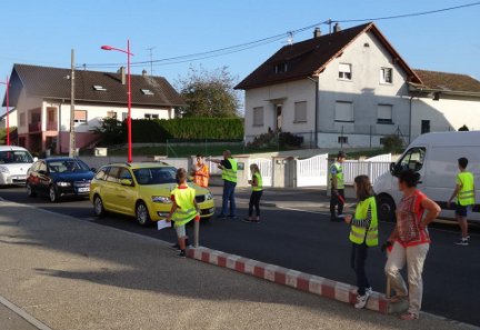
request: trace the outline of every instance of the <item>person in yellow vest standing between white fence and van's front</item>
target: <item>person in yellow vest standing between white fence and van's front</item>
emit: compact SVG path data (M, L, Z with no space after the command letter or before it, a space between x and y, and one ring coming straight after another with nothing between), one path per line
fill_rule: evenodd
M330 221L341 221L336 214L336 207L338 206L338 214L343 213L344 204L344 182L343 182L343 167L347 154L339 151L337 160L332 163L329 170L330 180Z

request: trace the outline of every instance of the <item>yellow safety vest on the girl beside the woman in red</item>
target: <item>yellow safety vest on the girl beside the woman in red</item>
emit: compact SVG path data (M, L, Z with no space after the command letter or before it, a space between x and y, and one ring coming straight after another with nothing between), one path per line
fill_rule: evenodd
M368 247L378 246L378 219L377 219L377 202L374 197L369 197L357 204L354 219L367 219L368 209L371 210L371 221L369 228L351 226L350 241L356 244L367 243Z

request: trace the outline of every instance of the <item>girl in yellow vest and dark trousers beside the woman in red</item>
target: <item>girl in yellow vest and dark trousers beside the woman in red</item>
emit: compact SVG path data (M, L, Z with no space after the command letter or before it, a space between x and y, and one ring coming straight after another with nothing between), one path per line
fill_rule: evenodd
M356 308L363 308L372 293L372 288L367 279L364 264L368 248L378 246L378 218L377 203L367 176L354 178L357 193L357 208L354 216L346 214L344 221L351 224L350 241L352 242L350 263L357 274L358 296Z

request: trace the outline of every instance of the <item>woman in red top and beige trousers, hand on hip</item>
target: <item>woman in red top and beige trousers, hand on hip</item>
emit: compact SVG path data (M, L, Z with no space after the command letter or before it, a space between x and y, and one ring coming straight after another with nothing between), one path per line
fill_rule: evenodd
M399 174L398 186L402 198L397 207L397 224L388 239L393 246L384 270L391 289L396 292L390 300L409 300L408 311L400 317L402 320L419 318L423 294L423 263L430 247L428 226L441 211L434 201L417 189L419 179L419 173L412 170ZM400 274L406 264L408 289Z

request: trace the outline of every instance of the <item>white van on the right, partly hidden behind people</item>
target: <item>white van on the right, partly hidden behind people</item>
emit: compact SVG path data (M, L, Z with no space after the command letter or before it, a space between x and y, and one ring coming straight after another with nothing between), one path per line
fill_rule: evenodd
M420 174L417 187L442 208L440 217L454 219L454 211L447 209L447 201L456 187L461 157L468 159L467 170L473 173L476 182L477 203L468 219L480 221L480 131L427 133L413 140L399 160L391 163L390 173L381 176L373 186L379 218L394 219L396 206L401 198L396 174L412 169Z

